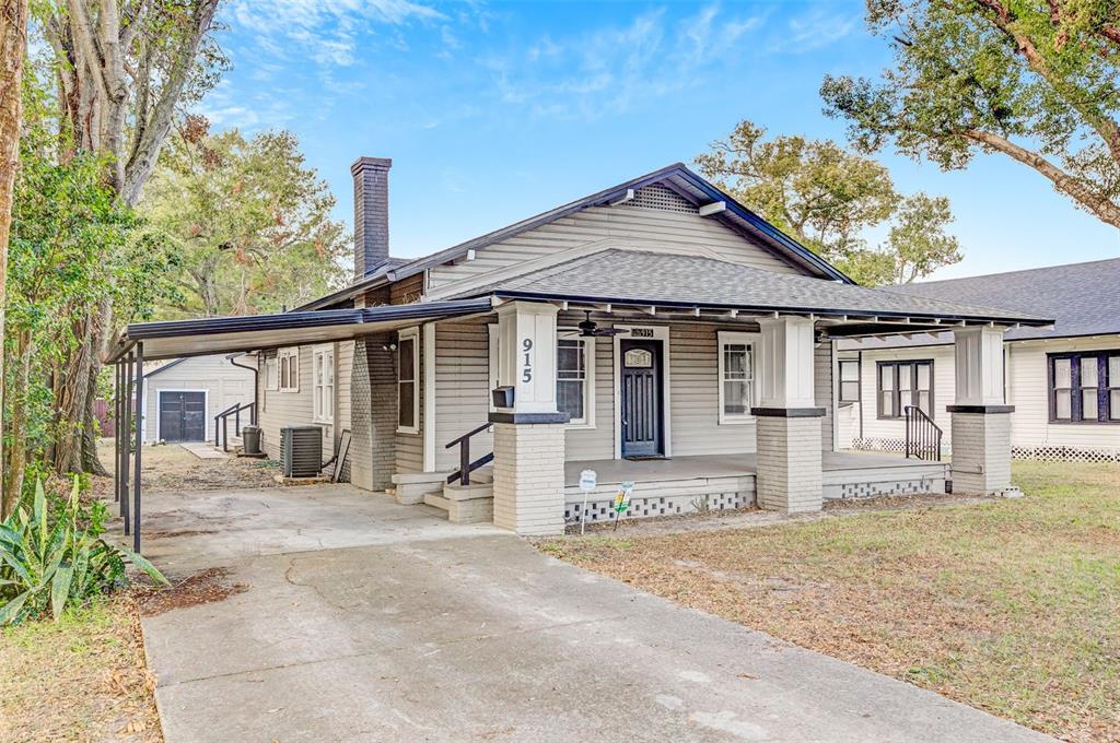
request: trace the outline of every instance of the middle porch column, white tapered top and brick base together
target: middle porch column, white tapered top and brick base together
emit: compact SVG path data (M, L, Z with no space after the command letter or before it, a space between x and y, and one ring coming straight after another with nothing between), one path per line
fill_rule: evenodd
M757 418L758 505L787 514L815 511L823 502L821 417L813 388L813 321L768 318L758 354L760 405Z

